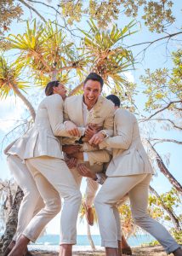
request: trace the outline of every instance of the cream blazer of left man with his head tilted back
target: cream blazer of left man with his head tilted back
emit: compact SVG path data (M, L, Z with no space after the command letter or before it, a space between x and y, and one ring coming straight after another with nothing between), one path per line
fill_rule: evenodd
M63 100L58 94L47 96L37 109L35 125L26 143L24 159L51 156L63 159L60 139L70 136L63 124Z

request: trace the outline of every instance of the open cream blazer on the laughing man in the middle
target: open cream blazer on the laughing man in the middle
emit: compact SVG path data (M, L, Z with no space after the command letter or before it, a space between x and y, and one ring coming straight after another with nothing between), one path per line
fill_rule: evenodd
M79 96L70 96L65 99L64 104L64 120L71 120L75 123L79 129L84 130L84 119L82 112L82 95ZM86 119L86 125L89 123L100 125L103 127L103 131L105 131L108 136L113 135L113 122L114 122L114 104L105 99L102 96L99 96L98 101L94 105L92 111L88 113ZM63 138L64 144L72 144L74 143L73 139ZM93 147L90 147L88 143L84 143L83 148L84 151L92 151L95 150ZM87 148L89 148L87 150Z

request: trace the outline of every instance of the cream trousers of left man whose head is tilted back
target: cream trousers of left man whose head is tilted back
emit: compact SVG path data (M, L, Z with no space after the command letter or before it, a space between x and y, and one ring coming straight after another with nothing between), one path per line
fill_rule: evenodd
M41 156L26 160L45 207L31 219L23 235L36 241L44 226L60 212L60 197L64 205L60 219L60 244L77 243L77 215L82 195L64 160Z

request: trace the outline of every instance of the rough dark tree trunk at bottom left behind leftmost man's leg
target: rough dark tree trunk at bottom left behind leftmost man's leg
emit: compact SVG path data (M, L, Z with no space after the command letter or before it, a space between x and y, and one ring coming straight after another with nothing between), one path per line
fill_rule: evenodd
M23 192L18 187L16 190L16 195L14 197L13 206L11 208L9 218L6 223L6 229L5 229L4 234L0 240L0 252L2 252L2 253L6 250L6 248L9 246L9 243L12 241L12 239L14 237L14 233L16 231L16 226L17 226L17 222L18 222L17 216L18 216L20 202L21 202L22 198L23 198Z

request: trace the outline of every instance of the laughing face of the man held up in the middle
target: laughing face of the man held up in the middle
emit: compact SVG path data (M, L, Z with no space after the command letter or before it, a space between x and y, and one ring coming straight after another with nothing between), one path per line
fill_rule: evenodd
M83 86L83 98L88 110L94 107L101 93L100 82L89 79Z

